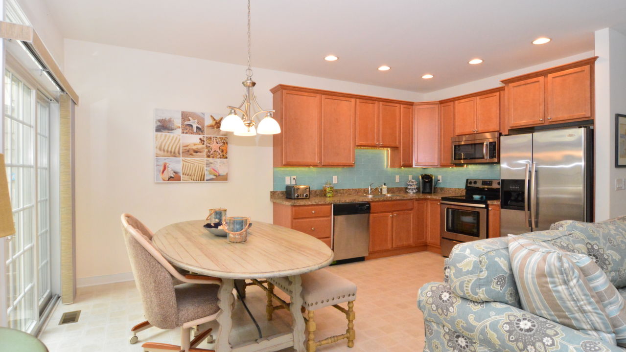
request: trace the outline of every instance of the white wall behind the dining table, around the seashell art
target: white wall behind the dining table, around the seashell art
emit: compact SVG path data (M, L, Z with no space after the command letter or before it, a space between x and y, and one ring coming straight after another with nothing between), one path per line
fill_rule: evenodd
M244 53L245 54L245 53ZM239 105L244 66L84 41L65 41L66 76L80 96L76 108L76 267L92 276L130 271L120 214L153 231L200 219L207 209L272 220L272 138L230 137L228 183L156 184L153 109L227 113ZM419 94L364 84L255 69L255 92L272 106L276 84L417 101Z

